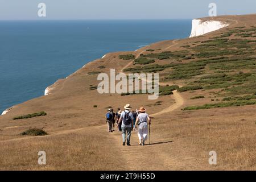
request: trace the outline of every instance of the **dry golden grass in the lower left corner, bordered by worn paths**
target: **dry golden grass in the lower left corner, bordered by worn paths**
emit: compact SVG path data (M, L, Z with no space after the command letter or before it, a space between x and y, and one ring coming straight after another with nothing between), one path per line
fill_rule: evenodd
M97 128L97 127L96 127ZM1 170L117 170L121 156L113 140L95 129L56 136L1 142ZM47 165L38 164L46 152Z

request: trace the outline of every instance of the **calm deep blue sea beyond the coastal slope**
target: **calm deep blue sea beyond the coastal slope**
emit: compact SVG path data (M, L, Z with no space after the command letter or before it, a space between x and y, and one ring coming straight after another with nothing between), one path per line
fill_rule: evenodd
M186 38L191 20L0 22L0 114L108 52Z

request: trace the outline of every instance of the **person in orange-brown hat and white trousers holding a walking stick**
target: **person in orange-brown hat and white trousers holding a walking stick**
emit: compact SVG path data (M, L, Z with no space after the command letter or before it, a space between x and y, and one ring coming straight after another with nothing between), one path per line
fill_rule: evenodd
M151 118L146 113L146 109L144 107L139 108L139 114L136 119L135 127L137 127L137 125L138 125L139 145L144 146L145 141L147 140L147 133L148 133L147 126L151 125Z

